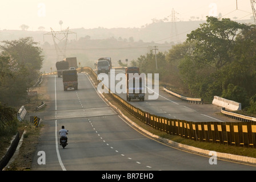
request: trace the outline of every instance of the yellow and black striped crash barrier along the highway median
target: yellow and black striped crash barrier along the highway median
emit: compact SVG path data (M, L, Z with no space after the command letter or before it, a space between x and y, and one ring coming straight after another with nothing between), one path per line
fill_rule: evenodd
M91 68L82 68L82 71L90 73L97 80L97 75ZM167 134L199 142L256 148L256 122L193 122L170 119L143 111L110 90L109 96L135 118Z

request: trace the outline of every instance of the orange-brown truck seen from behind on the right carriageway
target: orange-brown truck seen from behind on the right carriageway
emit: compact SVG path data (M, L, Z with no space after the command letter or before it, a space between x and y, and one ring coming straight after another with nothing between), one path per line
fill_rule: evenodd
M133 76L129 77L129 73ZM137 74L136 74L137 73ZM144 75L139 73L138 67L127 67L125 69L126 75L126 99L131 101L131 99L139 99L140 101L145 100L145 88L143 87Z

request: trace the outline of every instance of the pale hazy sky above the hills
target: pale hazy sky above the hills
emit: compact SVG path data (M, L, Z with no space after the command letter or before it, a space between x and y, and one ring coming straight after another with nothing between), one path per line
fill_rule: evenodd
M152 19L169 18L175 10L177 20L191 16L205 19L207 15L222 14L223 18L250 19L250 0L1 0L0 30L28 30L50 27L62 28L133 28L152 22ZM253 22L252 22L253 23Z

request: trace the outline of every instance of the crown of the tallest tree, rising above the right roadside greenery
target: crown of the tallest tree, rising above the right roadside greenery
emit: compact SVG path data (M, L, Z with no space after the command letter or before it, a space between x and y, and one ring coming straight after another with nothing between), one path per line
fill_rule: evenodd
M234 60L235 38L245 28L245 24L228 18L219 20L207 16L207 23L201 24L200 28L188 34L187 42L195 42L195 56L201 59L201 63L219 69Z

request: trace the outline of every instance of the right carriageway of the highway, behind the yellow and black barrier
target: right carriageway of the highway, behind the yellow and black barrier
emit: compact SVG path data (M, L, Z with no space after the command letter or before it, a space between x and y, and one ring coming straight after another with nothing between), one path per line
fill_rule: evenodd
M115 75L118 75L119 73L124 74L125 69L115 69ZM119 80L115 80L115 85L118 82ZM111 87L112 83L113 82L109 81L109 88L114 88L113 86ZM115 89L115 94L122 97L123 100L126 101L126 93L118 93ZM171 96L171 94L163 91L163 88L160 86L159 90L156 90L156 95L158 96L157 99L149 100L149 95L153 96L153 93L149 93L149 91L151 92L152 90L154 90L154 85L153 89L150 89L149 87L146 88L146 96L144 102L139 100L131 100L130 104L133 104L139 109L147 111L151 114L171 119L181 119L194 122L238 122L236 119L225 117L224 115L219 114L221 113L221 107L219 106L211 104L193 104L182 101L181 99L175 96Z

